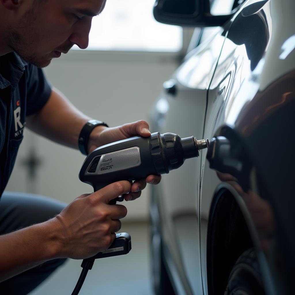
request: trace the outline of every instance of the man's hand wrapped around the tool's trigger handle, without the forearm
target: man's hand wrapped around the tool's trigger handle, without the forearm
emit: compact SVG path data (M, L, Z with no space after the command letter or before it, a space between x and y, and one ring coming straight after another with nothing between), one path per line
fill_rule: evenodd
M109 248L121 228L119 219L127 214L126 207L109 205L109 201L130 189L128 181L109 184L93 194L79 196L51 219L60 237L58 257L83 259Z

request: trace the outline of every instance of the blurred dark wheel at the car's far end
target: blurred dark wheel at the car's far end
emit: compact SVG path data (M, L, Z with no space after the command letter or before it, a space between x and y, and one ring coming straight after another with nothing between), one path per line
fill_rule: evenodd
M163 260L160 235L152 236L152 281L155 295L175 295Z

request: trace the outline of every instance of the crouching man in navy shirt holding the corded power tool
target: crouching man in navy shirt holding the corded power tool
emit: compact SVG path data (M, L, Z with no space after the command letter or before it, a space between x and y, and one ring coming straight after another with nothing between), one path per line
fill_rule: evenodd
M108 248L127 214L126 207L109 201L122 194L134 200L147 182L160 182L153 175L132 186L119 181L78 196L65 208L44 197L3 193L25 128L85 154L109 142L150 135L145 121L114 128L87 123L91 118L51 88L42 73L74 44L88 46L92 17L105 1L0 0L1 294L27 294L65 258L87 258Z

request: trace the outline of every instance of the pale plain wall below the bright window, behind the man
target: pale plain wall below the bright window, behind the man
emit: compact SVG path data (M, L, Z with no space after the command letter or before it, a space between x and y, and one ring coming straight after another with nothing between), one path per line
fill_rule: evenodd
M110 126L117 126L139 119L149 120L150 107L163 81L176 66L176 62L166 59L165 55L70 52L54 60L45 74L80 110ZM28 170L23 165L30 150L42 161L35 181L29 180ZM78 179L84 158L79 151L61 147L25 130L6 189L34 192L69 203L92 190ZM140 199L124 202L128 208L126 219L146 219L148 198L147 187Z

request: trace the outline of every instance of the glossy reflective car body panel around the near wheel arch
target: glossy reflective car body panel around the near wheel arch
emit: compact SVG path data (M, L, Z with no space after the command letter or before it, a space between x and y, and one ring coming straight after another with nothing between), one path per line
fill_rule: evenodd
M282 149L275 142L283 135L292 134L295 126L295 42L290 41L295 33L294 17L290 13L295 11L294 4L293 1L272 0L245 3L233 19L210 84L204 136L212 137L215 134L231 137L229 134L235 134L232 137L237 139L232 140L231 145L240 145L244 158L240 160L235 155L231 160L240 160L241 165L248 165L249 169L243 171L244 175L240 175L234 184L232 181L220 183L216 173L209 169L204 153L202 155L204 170L200 216L204 286L207 286L207 258L212 255L207 253L209 212L213 197L224 187L232 192L248 224L253 245L261 250L259 258L268 293L290 294L286 277L281 278L281 268L290 271L293 268L294 273L294 266L290 263L294 255L294 248L291 247L294 246L294 239L288 239L290 232L286 233L284 246L279 249L278 244L283 237L278 232L286 230L288 222L289 227L290 223L294 223L289 212L282 228L281 219L288 215L290 208L287 204L294 203L290 195L290 177L294 176L291 166L295 164L290 148L294 140L287 140ZM249 35L251 28L255 28L255 33ZM284 46L286 42L290 44L288 49ZM272 153L268 152L270 150ZM282 154L283 150L286 153ZM225 169L223 172L230 171ZM278 207L281 210L274 214ZM290 252L288 258L284 259L285 248ZM294 256L291 260L295 261ZM209 287L214 286L211 280ZM207 294L206 288L204 293Z

